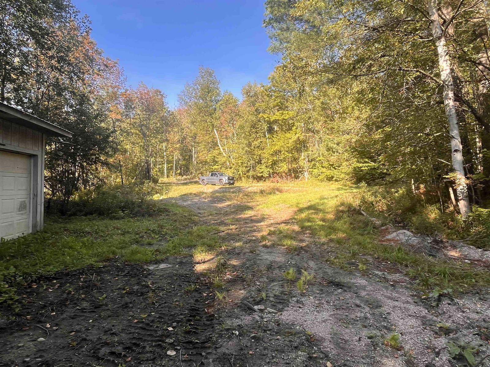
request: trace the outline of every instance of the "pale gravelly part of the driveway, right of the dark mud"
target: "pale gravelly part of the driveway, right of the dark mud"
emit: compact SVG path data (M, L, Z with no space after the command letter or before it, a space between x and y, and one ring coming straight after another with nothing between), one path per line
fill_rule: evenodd
M229 192L236 192L234 189ZM409 279L392 270L379 271L371 266L367 272L359 272L358 264L354 263L352 271L345 272L329 266L332 249L328 243L299 231L292 219L294 210L286 210L285 215L273 213L269 217L257 210L241 213L240 206L234 209L221 195L208 196L204 201L179 197L177 202L191 208L196 204L196 211L205 223L227 228L222 233L224 241L240 244L221 252L232 264L229 272L237 275L227 280L225 289L229 303L222 305L217 313L225 322L241 325L233 330L239 332L241 339L231 333L221 333L223 346L219 352L239 354L250 349L249 353L262 353L266 358L263 364L250 364L251 360L243 358L242 354L242 358L234 360L239 361L240 366L324 366L327 361L333 366L353 367L465 366L464 359L449 356L447 343L450 341L480 345L479 356L489 352L485 337L490 326L488 295L446 298L439 307L433 307L417 297L408 286ZM206 216L206 212L214 214ZM233 227L225 220L229 216L234 218ZM301 242L299 252L260 245L261 234L284 225L297 230ZM315 275L305 294L295 289L285 290L282 274L291 267L296 272L304 269ZM266 299L261 298L264 293ZM242 300L280 313L250 315L241 305ZM438 324L449 326L441 330ZM281 350L280 345L275 346L276 351L281 350L280 362L272 358L274 353L270 347L254 337L254 333L262 334L257 330L264 327L265 335L272 335L274 341L294 335L288 341L289 348ZM393 333L401 334L397 349L384 342ZM308 335L306 342L304 335ZM303 343L305 355L292 352L291 345L296 345L295 341ZM487 365L490 366L490 362Z

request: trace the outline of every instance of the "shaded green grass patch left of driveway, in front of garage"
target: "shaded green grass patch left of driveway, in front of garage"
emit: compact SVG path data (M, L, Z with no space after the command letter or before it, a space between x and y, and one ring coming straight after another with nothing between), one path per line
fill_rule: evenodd
M14 298L13 287L39 275L97 265L111 258L139 263L216 251L221 243L214 233L219 229L186 229L195 223L191 210L173 204L163 204L163 214L153 217L48 219L43 231L0 244L0 301Z

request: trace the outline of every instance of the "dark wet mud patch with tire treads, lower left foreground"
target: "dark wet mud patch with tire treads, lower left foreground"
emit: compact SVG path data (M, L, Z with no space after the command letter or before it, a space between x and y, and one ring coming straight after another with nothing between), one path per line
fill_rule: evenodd
M165 274L111 262L25 289L18 314L0 309L8 317L0 326L0 365L170 366L180 350L188 365L201 362L213 344L215 317L204 296L210 290L192 260L170 260ZM190 284L196 291L185 291ZM176 355L167 354L177 347Z

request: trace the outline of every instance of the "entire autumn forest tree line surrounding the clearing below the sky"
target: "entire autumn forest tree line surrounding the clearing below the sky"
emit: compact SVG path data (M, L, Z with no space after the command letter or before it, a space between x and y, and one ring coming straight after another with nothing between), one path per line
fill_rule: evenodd
M9 4L0 100L74 133L49 142L49 197L210 170L404 186L464 215L488 197L485 2L269 0L270 83L235 96L201 67L174 110L126 87L69 1Z

